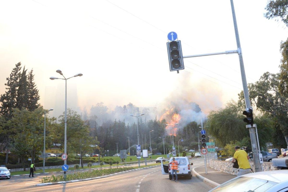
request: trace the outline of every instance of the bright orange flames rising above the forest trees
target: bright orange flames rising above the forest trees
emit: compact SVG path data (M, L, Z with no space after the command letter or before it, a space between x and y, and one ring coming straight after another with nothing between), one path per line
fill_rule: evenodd
M163 119L165 119L167 122L167 125L169 125L169 126L166 126L167 133L169 135L176 136L178 128L177 128L177 125L175 124L178 124L178 122L180 121L181 119L180 115L177 112L175 112L175 109L173 108L171 110L166 111L160 117L160 120L163 120Z

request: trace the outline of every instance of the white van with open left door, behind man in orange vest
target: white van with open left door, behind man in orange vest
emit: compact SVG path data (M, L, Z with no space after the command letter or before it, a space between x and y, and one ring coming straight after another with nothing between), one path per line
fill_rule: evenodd
M175 158L175 160L178 162L177 176L184 176L191 179L192 171L190 165L193 165L193 163L190 164L187 157L171 157L170 160L161 159L162 174L169 174L169 179L172 179L171 165L169 165L169 163L172 162L172 158Z

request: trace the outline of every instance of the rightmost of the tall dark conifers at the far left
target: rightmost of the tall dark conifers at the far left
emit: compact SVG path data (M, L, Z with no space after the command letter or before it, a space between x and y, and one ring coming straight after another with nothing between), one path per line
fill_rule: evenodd
M38 104L40 96L39 96L39 91L36 88L36 85L34 82L33 69L31 69L27 77L27 91L28 91L27 109L28 111L34 111L40 106L40 104Z

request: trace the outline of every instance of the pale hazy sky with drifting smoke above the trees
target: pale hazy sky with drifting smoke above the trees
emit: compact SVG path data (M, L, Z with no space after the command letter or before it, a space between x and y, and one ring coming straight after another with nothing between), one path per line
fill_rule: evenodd
M281 41L288 29L268 20L267 1L234 0L247 83L279 72ZM170 72L167 35L174 31L183 56L236 50L229 0L56 1L0 0L0 93L18 62L33 69L39 103L58 117L103 102L109 110L137 107L201 108L209 111L237 100L243 90L238 54L184 58L184 70ZM187 109L185 109L187 112ZM135 114L136 115L136 114Z

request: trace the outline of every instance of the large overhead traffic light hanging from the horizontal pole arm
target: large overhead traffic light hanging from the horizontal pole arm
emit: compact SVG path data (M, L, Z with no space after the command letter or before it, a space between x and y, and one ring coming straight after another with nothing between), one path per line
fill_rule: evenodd
M167 42L170 71L184 69L181 41Z

